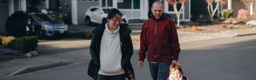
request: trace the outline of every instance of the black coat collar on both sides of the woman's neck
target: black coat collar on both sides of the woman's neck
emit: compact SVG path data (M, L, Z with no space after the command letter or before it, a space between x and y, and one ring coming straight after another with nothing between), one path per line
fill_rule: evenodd
M102 35L103 32L104 32L104 30L105 30L105 24L106 24L106 23L107 23L107 22L104 22L104 23L98 25L98 26L92 31L92 34L94 34L94 35L96 35L96 36ZM120 27L120 30L119 30L120 34L122 34L122 35L124 35L124 36L127 36L128 34L131 33L131 30L128 29L125 25L120 24L119 27Z

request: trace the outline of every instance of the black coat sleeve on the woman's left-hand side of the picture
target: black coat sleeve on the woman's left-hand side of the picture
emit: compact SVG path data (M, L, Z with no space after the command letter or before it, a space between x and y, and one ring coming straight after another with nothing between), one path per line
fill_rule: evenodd
M100 68L100 58L99 58L99 55L97 54L97 38L96 37L97 36L92 35L92 41L89 46L89 51L92 56L92 61L94 65Z

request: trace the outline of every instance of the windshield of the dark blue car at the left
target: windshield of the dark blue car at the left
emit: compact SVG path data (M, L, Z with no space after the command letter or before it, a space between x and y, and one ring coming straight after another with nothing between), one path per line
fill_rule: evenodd
M50 17L46 14L32 14L37 21L55 21L53 17Z

